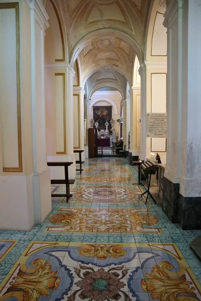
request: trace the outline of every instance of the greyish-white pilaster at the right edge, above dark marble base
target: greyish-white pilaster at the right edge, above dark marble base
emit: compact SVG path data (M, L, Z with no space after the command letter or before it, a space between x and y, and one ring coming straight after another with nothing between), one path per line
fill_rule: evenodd
M180 194L186 198L191 218L201 218L201 3L185 1L182 6L182 88ZM185 62L185 64L183 63ZM188 200L187 200L188 198ZM198 198L196 200L196 198ZM199 204L198 204L199 203ZM195 209L196 208L196 209ZM185 208L184 208L185 209ZM187 209L187 207L186 207ZM199 212L199 216L197 215ZM193 213L194 212L194 213ZM195 216L194 216L195 214ZM185 221L183 221L185 223ZM198 221L197 221L198 222ZM200 225L200 221L199 221Z

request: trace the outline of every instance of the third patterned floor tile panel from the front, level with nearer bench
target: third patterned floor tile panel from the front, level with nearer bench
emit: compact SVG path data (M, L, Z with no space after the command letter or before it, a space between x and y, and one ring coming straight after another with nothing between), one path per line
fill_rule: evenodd
M74 202L101 202L101 203L137 203L144 204L145 197L141 197L142 189L140 186L77 186L74 185L71 189ZM65 200L64 200L65 201Z

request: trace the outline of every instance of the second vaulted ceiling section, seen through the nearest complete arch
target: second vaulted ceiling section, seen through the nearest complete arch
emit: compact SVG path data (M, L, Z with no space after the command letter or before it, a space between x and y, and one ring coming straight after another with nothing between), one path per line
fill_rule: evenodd
M95 78L102 81L117 81L122 76L130 80L134 55L131 46L119 38L96 39L88 43L79 54L82 78L86 80L97 72ZM121 83L122 80L119 80Z

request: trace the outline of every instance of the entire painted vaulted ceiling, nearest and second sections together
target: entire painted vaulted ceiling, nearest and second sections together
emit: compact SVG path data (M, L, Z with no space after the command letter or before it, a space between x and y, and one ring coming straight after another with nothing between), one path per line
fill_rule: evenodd
M143 58L152 0L57 0L64 18L69 62L79 60L82 84L132 83L135 55Z

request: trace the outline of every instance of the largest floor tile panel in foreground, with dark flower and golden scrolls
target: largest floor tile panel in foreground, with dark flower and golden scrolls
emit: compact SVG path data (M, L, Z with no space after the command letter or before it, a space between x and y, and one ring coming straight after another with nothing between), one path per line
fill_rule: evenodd
M200 301L201 285L175 243L32 241L0 300Z

